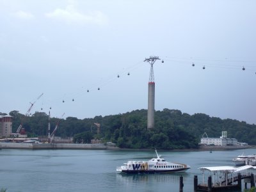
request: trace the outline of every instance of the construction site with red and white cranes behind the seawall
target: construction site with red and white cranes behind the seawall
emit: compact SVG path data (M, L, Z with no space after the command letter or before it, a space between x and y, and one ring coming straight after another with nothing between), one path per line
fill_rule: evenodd
M42 93L36 100L40 99L44 93ZM30 102L26 116L31 115L31 109L35 102ZM63 118L61 115L61 118ZM101 143L99 140L92 140L90 143L73 143L72 138L60 138L55 137L56 131L59 127L61 118L56 123L53 131L51 132L51 112L48 115L47 136L40 136L36 138L29 138L26 134L26 130L22 127L23 122L20 122L17 131L12 133L12 116L1 115L0 116L0 149L1 148L17 148L17 149L108 149L116 148L114 143ZM97 134L100 133L100 124L94 123L97 127ZM91 127L92 129L92 127Z

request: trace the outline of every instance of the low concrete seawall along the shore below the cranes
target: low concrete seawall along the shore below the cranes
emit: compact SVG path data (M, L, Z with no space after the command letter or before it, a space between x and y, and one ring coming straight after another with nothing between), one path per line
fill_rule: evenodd
M76 144L76 143L0 143L0 148L16 149L108 149L102 143ZM112 149L113 147L111 147ZM118 148L118 147L116 147Z

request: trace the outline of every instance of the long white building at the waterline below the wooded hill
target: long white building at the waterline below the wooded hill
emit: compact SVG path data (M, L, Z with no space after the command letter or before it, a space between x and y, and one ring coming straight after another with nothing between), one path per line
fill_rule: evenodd
M206 134L207 136L207 134ZM215 146L227 146L227 145L238 145L235 138L227 138L227 131L222 131L220 138L201 138L200 145L215 145Z

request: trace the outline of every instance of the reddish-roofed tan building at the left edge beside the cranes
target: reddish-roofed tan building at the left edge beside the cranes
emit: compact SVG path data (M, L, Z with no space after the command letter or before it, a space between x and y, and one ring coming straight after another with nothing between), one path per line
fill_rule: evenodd
M12 135L12 116L0 115L0 138Z

